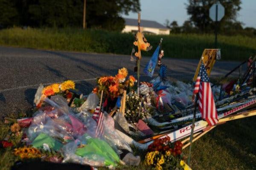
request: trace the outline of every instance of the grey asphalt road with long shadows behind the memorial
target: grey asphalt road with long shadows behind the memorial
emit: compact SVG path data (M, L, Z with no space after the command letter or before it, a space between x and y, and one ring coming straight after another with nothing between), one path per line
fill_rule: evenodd
M188 54L189 55L189 54ZM192 79L198 59L163 58L171 81ZM143 57L141 72L149 57ZM239 62L217 61L211 77L226 74ZM29 48L0 46L0 116L10 112L24 111L33 106L36 89L44 85L75 80L76 88L84 94L92 91L96 77L115 75L118 68L128 68L134 74L135 63L130 57L112 54L88 54L64 51L46 51ZM158 69L155 70L157 74ZM238 73L235 73L238 75ZM143 76L142 80L150 80Z

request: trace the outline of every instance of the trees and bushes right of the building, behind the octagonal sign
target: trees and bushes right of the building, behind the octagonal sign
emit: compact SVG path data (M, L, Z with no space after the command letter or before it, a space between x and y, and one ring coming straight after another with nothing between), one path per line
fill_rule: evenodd
M218 32L225 35L242 34L256 36L256 29L252 27L243 28L243 23L237 20L238 12L241 10L241 0L219 0L225 8L225 15L218 22ZM186 3L189 20L182 26L177 21L166 20L165 25L171 28L172 33L214 33L215 23L209 17L209 8L216 0L188 0Z

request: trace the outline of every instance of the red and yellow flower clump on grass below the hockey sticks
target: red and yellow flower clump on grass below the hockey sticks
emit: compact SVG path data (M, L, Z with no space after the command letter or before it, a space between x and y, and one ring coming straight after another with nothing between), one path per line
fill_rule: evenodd
M169 136L156 139L148 146L145 164L154 167L156 170L183 170L182 146L183 144L180 141L174 144L170 142Z

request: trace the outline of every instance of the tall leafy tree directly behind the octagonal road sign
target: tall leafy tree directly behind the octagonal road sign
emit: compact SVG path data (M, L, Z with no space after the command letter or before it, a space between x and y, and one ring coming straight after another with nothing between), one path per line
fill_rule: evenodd
M241 9L241 0L219 0L225 8L225 16L219 23L221 31L227 22L236 23L238 11ZM201 32L212 32L214 30L213 21L209 18L209 8L216 0L188 0L186 4L190 21Z

